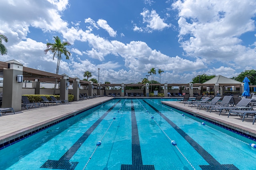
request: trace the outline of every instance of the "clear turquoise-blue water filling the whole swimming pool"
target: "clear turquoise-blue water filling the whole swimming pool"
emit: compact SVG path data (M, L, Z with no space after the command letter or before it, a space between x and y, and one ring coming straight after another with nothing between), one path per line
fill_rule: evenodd
M160 101L114 99L94 107L0 150L0 169L255 169L252 140Z

